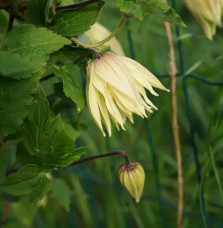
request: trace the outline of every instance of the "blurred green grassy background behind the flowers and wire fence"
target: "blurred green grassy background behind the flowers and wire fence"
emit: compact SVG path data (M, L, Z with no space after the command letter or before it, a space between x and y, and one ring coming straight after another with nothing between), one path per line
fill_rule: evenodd
M105 2L98 20L112 30L121 15L113 1ZM171 1L169 3L172 4ZM219 29L210 42L184 1L177 3L177 11L187 25L180 28L178 37L172 27L178 71L194 72L210 81L222 80L223 31ZM4 27L7 20L6 13L0 11L1 32L7 28ZM161 20L150 15L142 22L131 19L117 38L127 56L135 58L158 76L168 74L168 46ZM184 69L180 68L179 41L182 42ZM211 86L195 78L185 79L185 75L177 79L184 176L184 228L223 227L223 87ZM52 93L49 89L52 80L43 83L45 91L49 90L48 94ZM170 88L169 77L160 80ZM185 96L185 92L188 96ZM103 158L53 172L51 185L55 190L44 197L37 207L28 205L22 198L19 206L19 202L13 202L14 199L10 198L11 210L4 227L175 227L177 165L171 127L171 94L160 91L159 95L150 97L159 108L157 112L147 120L134 116L134 125L126 124L126 132L118 132L114 128L111 138L102 136L87 107L80 115L71 105L64 107L58 103L52 107L82 129L76 143L78 146L88 146L85 156L121 149L129 154L131 161L139 161L144 166L146 183L139 204L135 204L119 183L117 173L124 162L122 158ZM13 148L10 152L13 154ZM0 199L0 214L6 204L5 200Z

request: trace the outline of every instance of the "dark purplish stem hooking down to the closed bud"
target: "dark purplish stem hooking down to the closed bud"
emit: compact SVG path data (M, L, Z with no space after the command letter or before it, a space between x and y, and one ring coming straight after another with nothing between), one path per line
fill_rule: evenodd
M128 154L125 151L117 150L117 151L113 151L110 153L99 154L99 155L95 155L92 157L85 158L85 159L77 161L77 162L73 162L70 166L79 165L79 164L87 162L87 161L92 161L95 159L104 158L104 157L111 157L111 156L122 156L125 159L126 165L128 165L130 163Z

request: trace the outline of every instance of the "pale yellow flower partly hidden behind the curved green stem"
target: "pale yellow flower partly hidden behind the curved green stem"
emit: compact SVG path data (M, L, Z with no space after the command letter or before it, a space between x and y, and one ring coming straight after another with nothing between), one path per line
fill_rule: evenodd
M88 35L90 41L94 44L94 43L100 42L101 40L104 40L106 37L108 37L111 34L111 32L106 27L96 22L91 27L91 29L86 32L86 34ZM105 44L99 46L98 49L99 51L103 51L108 47L110 47L112 52L118 55L123 55L123 56L125 55L121 44L115 37L110 39Z

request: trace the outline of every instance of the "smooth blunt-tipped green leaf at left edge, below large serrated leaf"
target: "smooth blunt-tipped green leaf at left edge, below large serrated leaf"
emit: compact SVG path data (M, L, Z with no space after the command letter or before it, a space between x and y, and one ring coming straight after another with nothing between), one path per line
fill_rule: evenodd
M10 52L0 51L0 74L4 77L21 79L30 77L38 70L35 62Z

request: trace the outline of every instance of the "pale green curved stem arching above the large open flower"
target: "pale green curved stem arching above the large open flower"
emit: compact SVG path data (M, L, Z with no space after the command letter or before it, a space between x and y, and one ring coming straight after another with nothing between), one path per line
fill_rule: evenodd
M84 48L95 48L95 47L98 47L98 46L101 46L103 45L104 43L108 42L110 39L112 39L123 27L123 25L125 24L126 20L129 18L128 15L126 14L123 14L121 20L119 21L118 25L116 26L116 28L113 30L113 32L108 36L106 37L104 40L98 42L98 43L95 43L95 44L84 44L82 42L80 42L78 39L72 37L70 38L71 41L73 41L74 43L76 44L79 44L81 45L82 47Z

